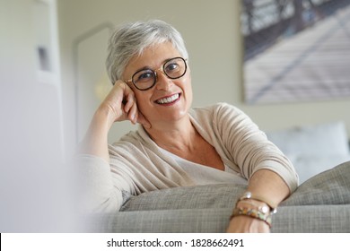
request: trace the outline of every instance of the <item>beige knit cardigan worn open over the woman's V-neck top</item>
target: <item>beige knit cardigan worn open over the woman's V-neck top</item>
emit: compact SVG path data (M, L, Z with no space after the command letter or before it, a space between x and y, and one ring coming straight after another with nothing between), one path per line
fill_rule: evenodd
M190 119L225 165L249 180L258 169L279 174L293 192L298 176L292 163L239 108L219 103L194 108ZM109 145L110 165L92 155L80 155L83 169L83 207L87 212L116 212L122 193L139 195L176 186L195 186L176 160L164 154L140 125ZM214 177L213 177L214 178Z

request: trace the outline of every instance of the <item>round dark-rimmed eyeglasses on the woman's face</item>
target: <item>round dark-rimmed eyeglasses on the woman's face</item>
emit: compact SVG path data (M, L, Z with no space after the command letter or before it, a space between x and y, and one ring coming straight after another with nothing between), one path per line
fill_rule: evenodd
M188 65L182 57L174 57L167 60L158 70L142 69L137 71L127 83L132 82L140 91L151 89L157 82L157 71L162 71L170 79L178 79L186 74Z

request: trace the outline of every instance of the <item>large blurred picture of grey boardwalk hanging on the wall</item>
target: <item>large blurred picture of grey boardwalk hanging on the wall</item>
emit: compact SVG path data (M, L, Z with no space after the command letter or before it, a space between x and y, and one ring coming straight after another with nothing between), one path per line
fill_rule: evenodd
M350 97L350 1L241 0L249 104Z

